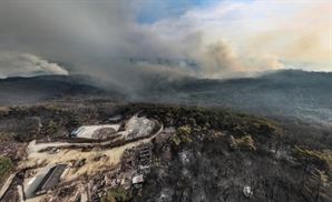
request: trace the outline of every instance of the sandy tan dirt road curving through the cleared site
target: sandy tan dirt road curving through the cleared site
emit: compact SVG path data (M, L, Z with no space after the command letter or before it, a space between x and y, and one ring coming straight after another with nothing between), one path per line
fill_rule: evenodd
M131 118L131 123L135 121L135 119L140 119L137 118L137 115L134 115ZM143 125L144 127L144 125ZM127 130L129 130L128 128ZM80 149L62 149L60 150L59 153L56 154L50 154L49 152L38 152L45 148L48 147L69 147L69 145L78 145L78 147L87 147L87 145L99 145L98 143L66 143L66 142L51 142L51 143L41 143L41 144L36 144L36 141L31 141L29 145L27 147L27 154L28 154L28 161L27 164L28 166L35 165L35 164L40 164L41 162L47 163L47 164L68 164L70 161L80 161L81 159L86 159L86 164L79 169L76 169L75 171L70 172L66 181L72 180L80 174L87 172L87 173L92 173L98 170L105 170L105 168L109 168L113 165L116 165L119 163L120 158L124 153L124 151L128 148L133 148L138 145L140 142L148 142L156 135L158 135L160 132L164 130L164 124L160 124L160 129L158 132L156 132L153 137L146 138L146 139L140 139L134 142L129 142L125 145L111 148L109 150L102 150L101 152L107 155L107 160L100 160L98 162L95 162L95 158L97 155L100 155L100 152L97 152L96 150L92 150L90 152L81 152ZM107 141L102 142L101 145L107 145L113 143L113 141Z

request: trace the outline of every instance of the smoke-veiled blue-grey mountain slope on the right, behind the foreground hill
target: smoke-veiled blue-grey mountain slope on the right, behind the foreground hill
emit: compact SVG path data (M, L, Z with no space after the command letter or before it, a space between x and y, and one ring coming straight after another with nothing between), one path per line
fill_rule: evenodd
M284 70L258 78L184 79L158 85L162 81L154 80L155 84L141 92L145 94L141 100L214 105L282 122L332 123L332 73Z

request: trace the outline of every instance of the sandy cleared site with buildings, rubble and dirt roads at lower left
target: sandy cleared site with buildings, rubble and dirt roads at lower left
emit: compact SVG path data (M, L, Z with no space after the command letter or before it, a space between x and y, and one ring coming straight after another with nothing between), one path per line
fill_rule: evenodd
M120 124L82 125L68 134L70 142L30 142L21 171L14 173L22 176L19 201L100 201L117 185L141 189L153 162L152 140L164 127L138 114L123 123L123 131ZM76 139L95 141L75 143Z

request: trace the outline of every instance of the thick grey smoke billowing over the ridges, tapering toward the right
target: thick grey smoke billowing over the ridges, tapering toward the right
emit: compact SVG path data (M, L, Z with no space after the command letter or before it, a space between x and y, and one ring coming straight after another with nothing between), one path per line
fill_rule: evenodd
M131 1L3 1L1 6L2 77L67 74L48 62L57 61L75 73L138 87L148 74L169 80L225 78L283 68L276 55L260 52L247 57L223 38L206 42L203 29L138 24L139 7Z

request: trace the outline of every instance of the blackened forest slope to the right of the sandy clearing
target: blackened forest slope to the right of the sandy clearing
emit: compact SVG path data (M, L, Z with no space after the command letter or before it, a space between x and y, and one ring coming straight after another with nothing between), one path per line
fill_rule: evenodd
M328 135L326 131L309 128L306 133L296 133L290 130L291 125L286 128L248 114L186 107L140 107L165 122L172 120L178 128L174 137L156 138L155 166L134 201L332 199L331 130ZM178 119L177 111L182 114ZM214 124L214 119L221 119L219 124ZM306 144L307 139L314 143ZM299 150L296 145L301 144L306 147Z

